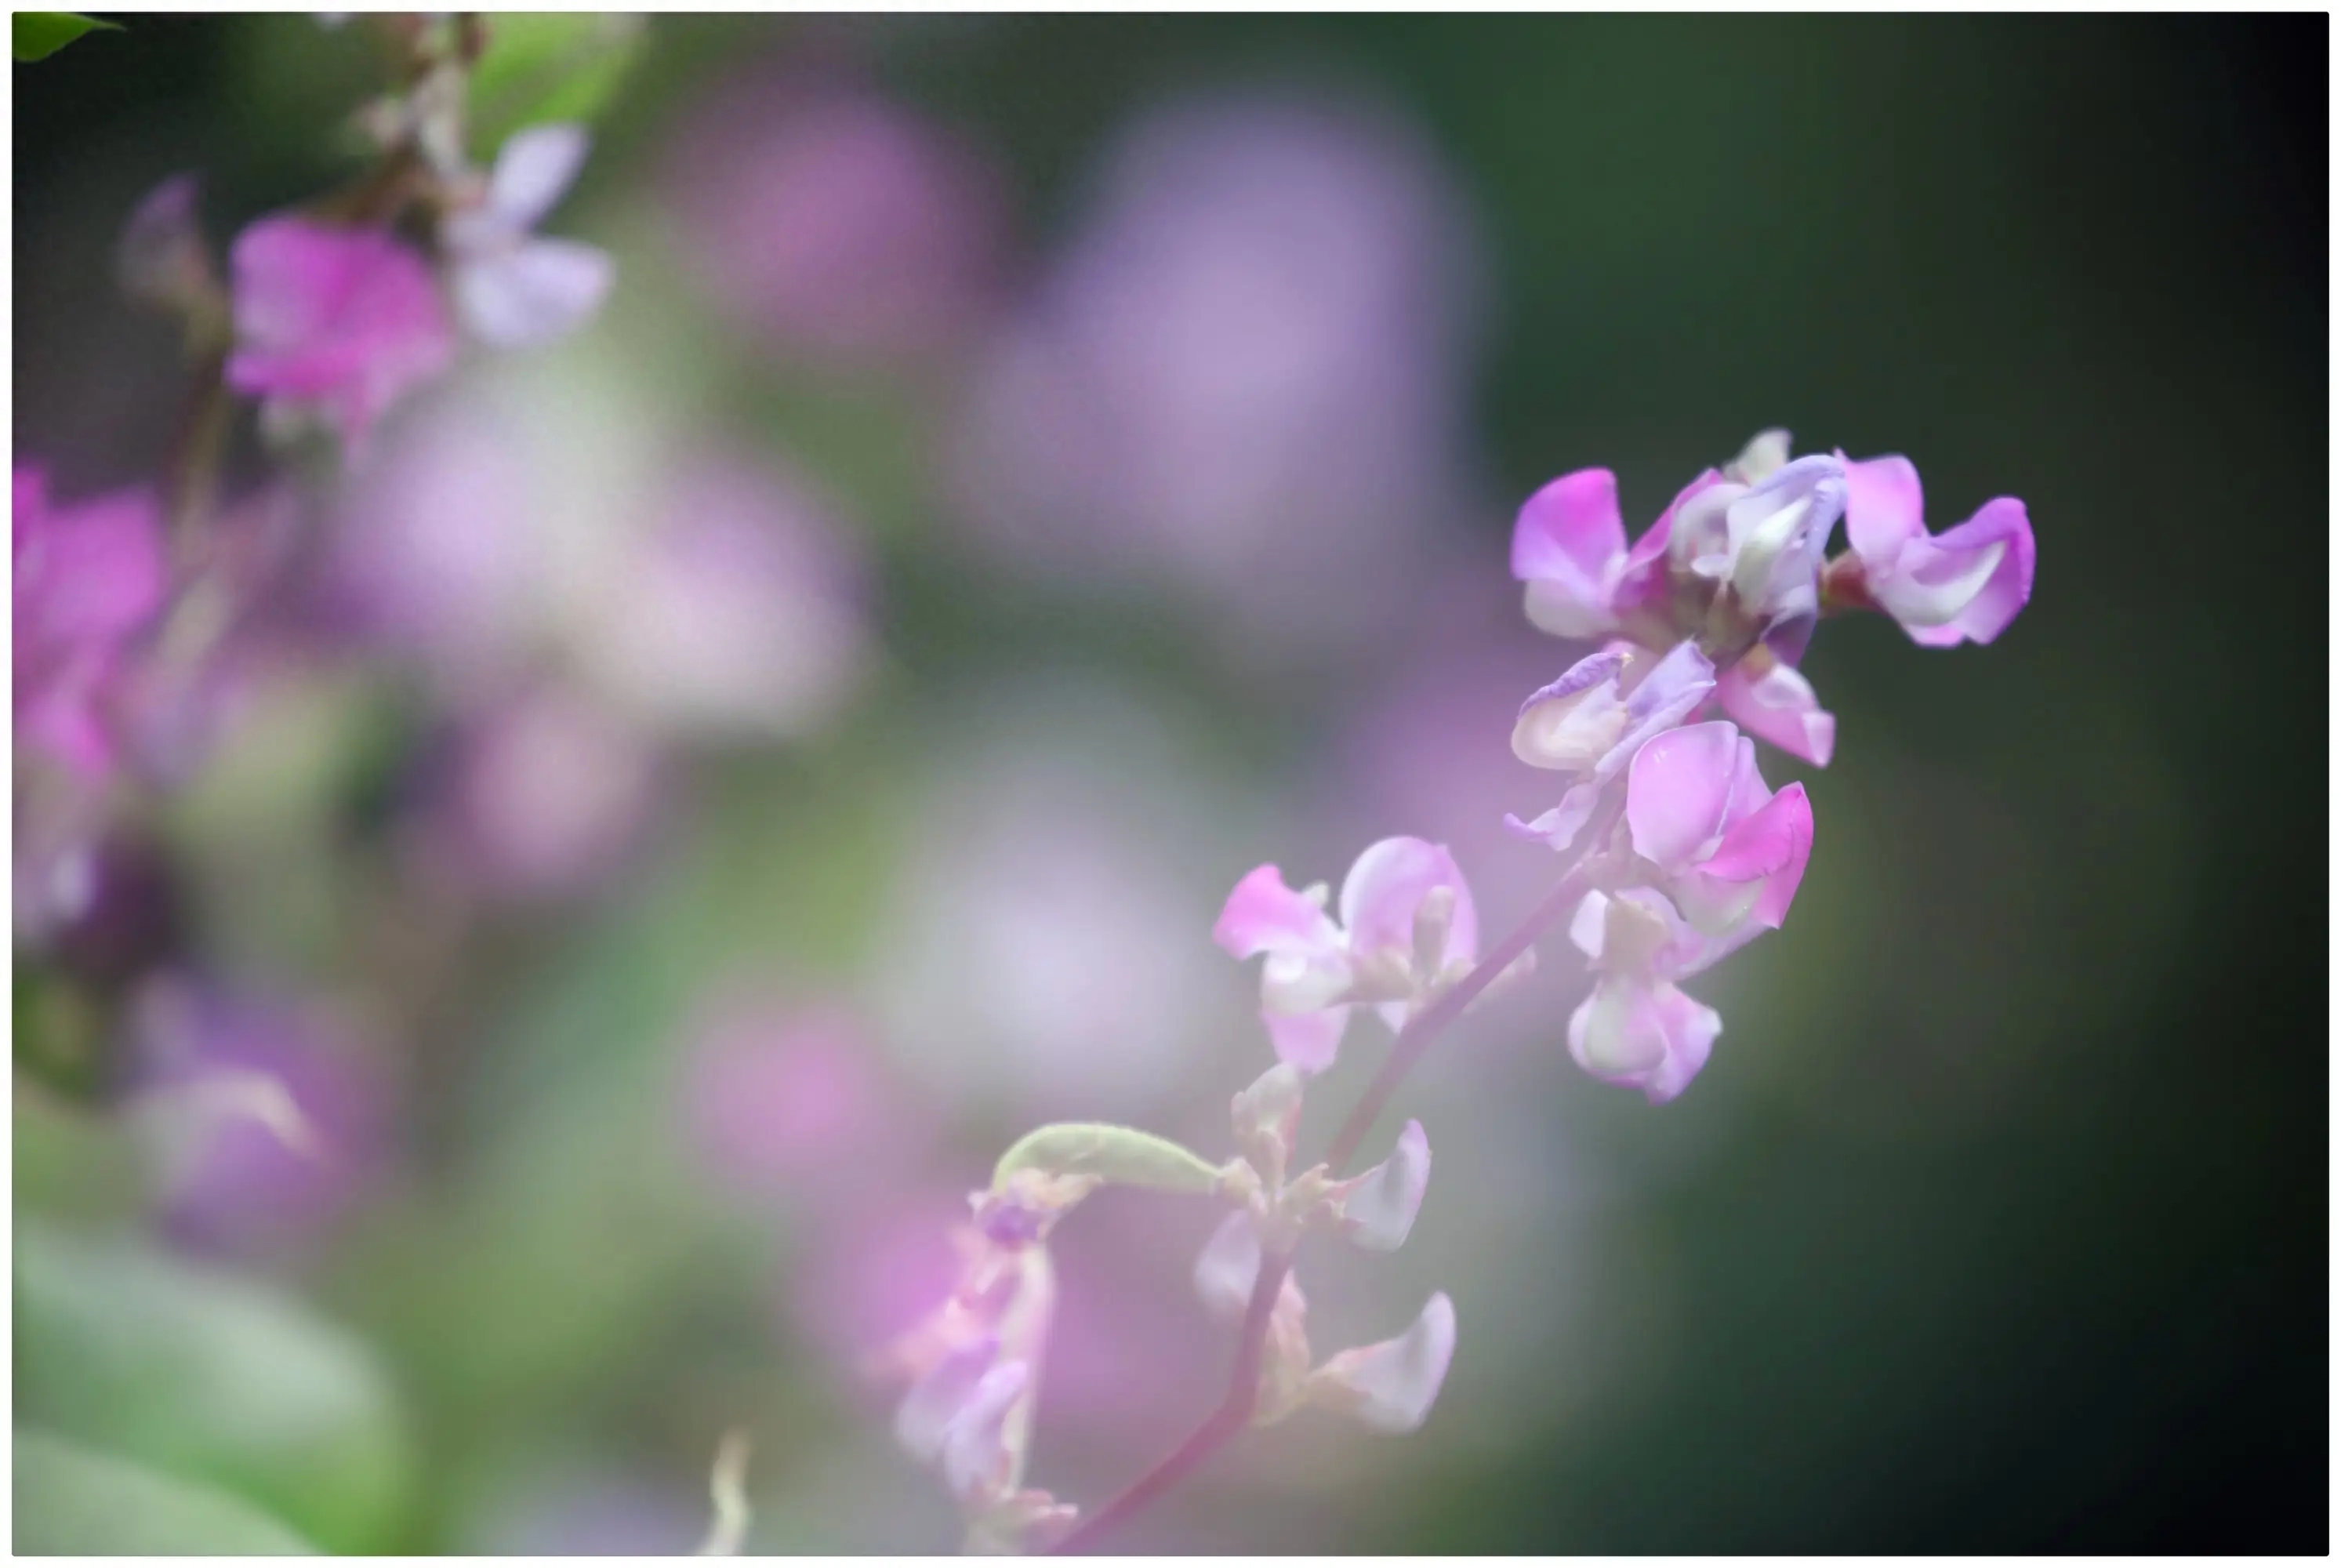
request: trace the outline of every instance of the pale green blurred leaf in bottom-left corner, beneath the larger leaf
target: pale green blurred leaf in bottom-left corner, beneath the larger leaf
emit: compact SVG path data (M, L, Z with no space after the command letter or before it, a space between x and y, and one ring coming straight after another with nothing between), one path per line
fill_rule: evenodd
M236 1498L16 1428L19 1556L307 1556Z

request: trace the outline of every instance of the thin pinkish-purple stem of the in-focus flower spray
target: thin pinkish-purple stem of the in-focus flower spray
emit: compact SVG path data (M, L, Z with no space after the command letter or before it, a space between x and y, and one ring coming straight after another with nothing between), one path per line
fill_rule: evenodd
M1489 955L1482 957L1470 974L1449 985L1430 1006L1407 1020L1407 1025L1398 1032L1398 1039L1391 1044L1391 1055L1381 1062L1381 1072L1374 1074L1374 1081L1358 1100L1358 1107L1334 1135L1332 1149L1325 1154L1327 1165L1339 1170L1351 1156L1358 1154L1358 1144L1365 1142L1365 1135L1374 1128L1374 1119L1381 1116L1391 1095L1398 1093L1398 1084L1414 1070L1414 1062L1423 1060L1430 1041L1437 1039L1449 1023L1461 1018L1463 1009L1468 1009L1480 992L1494 985L1496 978L1510 969L1538 936L1552 929L1557 920L1585 899L1590 882L1587 859L1592 847L1608 838L1608 831L1615 826L1622 810L1625 791L1613 784L1604 791L1594 814L1571 840L1568 852L1575 854L1575 864L1568 868L1568 875L1561 878L1559 887L1545 894L1545 901L1529 910L1529 917L1522 920L1510 936L1496 943L1496 948L1489 950ZM1229 1369L1227 1395L1220 1399L1220 1407L1203 1418L1203 1425L1187 1435L1187 1442L1163 1456L1142 1477L1114 1493L1114 1498L1084 1519L1079 1528L1065 1535L1065 1540L1056 1542L1051 1554L1096 1552L1098 1540L1103 1540L1117 1524L1178 1486L1196 1465L1217 1453L1229 1439L1250 1425L1252 1407L1259 1402L1259 1362L1269 1339L1269 1315L1276 1311L1276 1297L1283 1292L1288 1273L1292 1273L1292 1252L1259 1259L1259 1278L1252 1280L1252 1299L1243 1308L1243 1336L1236 1341L1236 1364Z

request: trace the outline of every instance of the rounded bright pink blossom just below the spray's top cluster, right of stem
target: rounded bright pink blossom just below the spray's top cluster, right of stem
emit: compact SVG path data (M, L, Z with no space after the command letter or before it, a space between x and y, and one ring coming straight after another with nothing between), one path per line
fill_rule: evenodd
M1744 920L1779 927L1812 854L1805 786L1772 793L1756 742L1721 721L1669 730L1634 756L1625 824L1634 854L1709 936Z

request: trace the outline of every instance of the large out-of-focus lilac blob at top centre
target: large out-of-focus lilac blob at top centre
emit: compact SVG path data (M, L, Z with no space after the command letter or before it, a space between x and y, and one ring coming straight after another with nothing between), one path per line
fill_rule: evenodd
M981 370L967 520L1037 573L1168 573L1262 648L1374 637L1456 503L1470 227L1374 115L1149 117Z

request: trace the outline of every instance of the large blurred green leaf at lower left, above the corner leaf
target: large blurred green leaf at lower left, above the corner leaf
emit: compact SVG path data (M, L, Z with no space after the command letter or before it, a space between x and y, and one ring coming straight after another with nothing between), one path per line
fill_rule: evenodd
M300 1301L117 1238L16 1222L16 1416L382 1549L405 1430L372 1355Z

